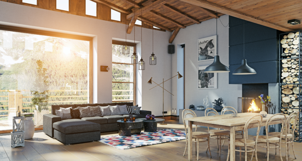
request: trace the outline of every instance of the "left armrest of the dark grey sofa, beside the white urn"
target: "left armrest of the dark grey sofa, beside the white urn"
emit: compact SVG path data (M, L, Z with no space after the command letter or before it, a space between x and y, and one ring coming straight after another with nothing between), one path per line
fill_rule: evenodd
M43 132L53 137L53 123L62 121L61 117L53 114L43 114Z

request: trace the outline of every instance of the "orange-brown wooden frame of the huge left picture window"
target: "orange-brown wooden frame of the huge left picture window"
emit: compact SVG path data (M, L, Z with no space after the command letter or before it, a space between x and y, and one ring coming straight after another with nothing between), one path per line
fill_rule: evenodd
M88 85L89 86L88 87L89 88L89 94L88 94L89 99L87 99L87 101L89 101L89 103L93 102L93 100L92 100L92 91L93 91L92 37L73 35L73 34L63 34L63 33L59 33L59 32L43 31L43 30L29 29L29 28L23 28L23 27L6 26L6 25L0 25L0 30L89 41L89 82L88 82L89 83L89 85Z

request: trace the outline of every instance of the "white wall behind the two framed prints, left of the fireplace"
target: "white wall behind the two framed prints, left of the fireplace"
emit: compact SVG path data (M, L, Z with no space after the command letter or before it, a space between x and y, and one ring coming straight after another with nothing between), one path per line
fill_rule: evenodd
M220 20L226 26L229 22L229 16L220 16ZM208 66L213 63L213 60L198 62L197 54L197 40L216 35L216 19L210 19L201 22L201 24L194 24L181 29L172 44L185 43L185 108L189 108L189 105L196 106L203 105L203 98L207 95L210 102L214 99L222 97L226 106L232 106L237 108L237 97L242 97L242 85L229 84L229 73L218 73L218 85L217 89L197 89L198 82L198 66ZM218 55L220 61L224 65L229 65L229 27L223 27L218 20L218 34L217 34L217 46ZM176 50L177 52L178 50ZM177 72L178 69L178 53L172 54L172 74ZM172 80L172 88L177 88L177 80ZM179 101L175 101L172 98L172 107L179 109L183 108L183 105L177 104ZM210 103L210 107L213 106ZM181 114L177 114L181 115Z

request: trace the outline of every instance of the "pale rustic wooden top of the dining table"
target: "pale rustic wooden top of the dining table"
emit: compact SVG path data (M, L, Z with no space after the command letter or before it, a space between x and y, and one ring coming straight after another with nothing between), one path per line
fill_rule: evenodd
M249 118L251 118L251 116L254 116L256 114L258 113L245 112L245 113L238 113L239 117L230 117L231 114L224 114L224 115L215 115L215 116L206 116L206 117L204 116L204 117L196 117L196 118L185 118L185 120L231 127L231 126L246 124ZM266 122L268 118L270 118L272 115L273 114L268 114L267 117L262 118L262 122ZM284 118L284 116L277 115L274 116L274 118Z

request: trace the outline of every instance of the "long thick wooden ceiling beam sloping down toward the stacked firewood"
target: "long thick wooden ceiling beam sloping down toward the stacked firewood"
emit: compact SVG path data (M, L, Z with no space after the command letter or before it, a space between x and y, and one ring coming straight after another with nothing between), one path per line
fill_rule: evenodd
M256 24L261 24L263 26L271 27L271 28L281 30L281 31L284 31L284 32L294 31L293 29L290 29L288 27L284 27L284 26L281 26L281 25L278 25L278 24L274 24L274 23L263 20L261 18L254 17L254 16L249 15L249 14L234 11L232 9L225 8L223 6L220 6L220 5L208 2L208 1L203 1L203 0L179 0L179 1L190 3L192 5L197 5L199 7L207 8L207 9L210 9L210 10L213 10L213 11L218 11L218 12L223 13L223 14L228 14L228 15L234 16L236 18L245 19L247 21L254 22Z

